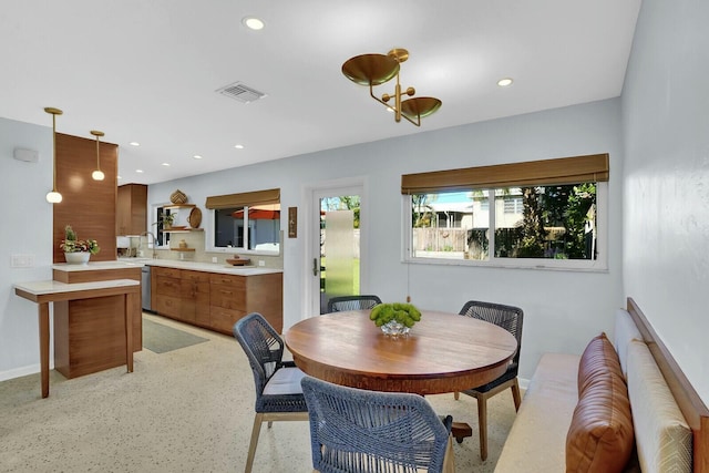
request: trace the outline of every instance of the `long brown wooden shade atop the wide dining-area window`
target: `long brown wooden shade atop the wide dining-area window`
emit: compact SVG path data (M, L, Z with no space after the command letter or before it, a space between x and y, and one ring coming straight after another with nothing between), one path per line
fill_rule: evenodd
M608 154L404 174L402 194L608 181Z

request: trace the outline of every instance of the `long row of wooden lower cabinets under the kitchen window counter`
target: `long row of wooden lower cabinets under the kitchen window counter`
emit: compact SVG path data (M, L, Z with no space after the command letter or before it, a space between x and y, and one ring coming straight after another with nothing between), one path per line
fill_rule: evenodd
M261 313L282 331L282 274L227 275L153 266L153 310L232 335L237 320Z

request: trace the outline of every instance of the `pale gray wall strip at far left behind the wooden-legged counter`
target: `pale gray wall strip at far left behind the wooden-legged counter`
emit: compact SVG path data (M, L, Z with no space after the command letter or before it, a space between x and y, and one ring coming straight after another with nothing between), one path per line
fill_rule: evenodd
M13 160L16 147L38 151L39 163ZM51 189L52 127L0 119L0 379L39 371L37 305L14 296L12 284L52 277ZM33 255L34 267L11 268L12 255Z

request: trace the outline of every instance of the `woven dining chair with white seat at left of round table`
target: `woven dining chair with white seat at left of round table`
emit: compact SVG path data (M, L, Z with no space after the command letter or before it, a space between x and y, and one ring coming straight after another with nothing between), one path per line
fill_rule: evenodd
M308 407L300 380L305 376L292 361L282 361L284 342L268 321L257 312L234 325L234 337L246 352L256 383L256 415L248 445L245 472L254 465L261 423L307 421Z

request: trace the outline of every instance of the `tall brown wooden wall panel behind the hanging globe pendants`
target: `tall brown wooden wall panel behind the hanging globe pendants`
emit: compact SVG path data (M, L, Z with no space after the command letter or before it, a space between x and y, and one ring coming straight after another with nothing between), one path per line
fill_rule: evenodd
M86 130L89 134L89 130ZM101 171L103 181L94 181L96 168L96 141L79 136L56 134L56 191L63 197L54 204L53 263L64 263L59 245L64 239L64 226L71 225L79 239L93 238L101 251L92 261L116 259L115 215L119 146L101 143Z

